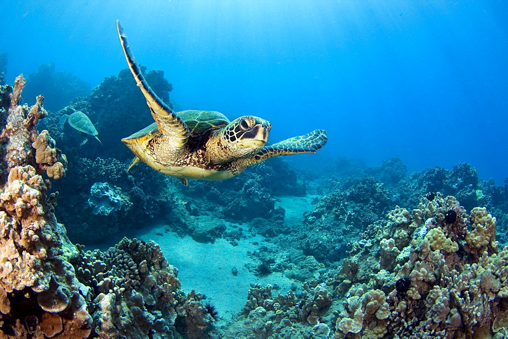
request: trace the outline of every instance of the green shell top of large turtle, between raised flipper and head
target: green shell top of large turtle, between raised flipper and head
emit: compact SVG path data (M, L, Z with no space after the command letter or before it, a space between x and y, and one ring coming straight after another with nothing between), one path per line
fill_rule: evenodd
M195 137L210 129L222 128L230 123L224 114L214 111L188 110L177 114L185 121L190 137Z

